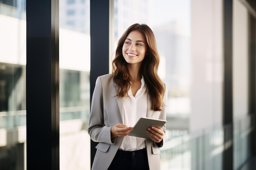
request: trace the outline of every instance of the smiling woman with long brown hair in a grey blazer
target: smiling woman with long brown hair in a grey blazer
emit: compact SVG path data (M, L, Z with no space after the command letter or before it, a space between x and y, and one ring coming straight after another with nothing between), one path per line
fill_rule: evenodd
M159 170L166 126L148 128L150 139L128 136L140 117L166 120L167 90L157 75L159 54L146 24L125 31L112 66L112 74L97 78L92 96L88 132L99 142L92 170Z

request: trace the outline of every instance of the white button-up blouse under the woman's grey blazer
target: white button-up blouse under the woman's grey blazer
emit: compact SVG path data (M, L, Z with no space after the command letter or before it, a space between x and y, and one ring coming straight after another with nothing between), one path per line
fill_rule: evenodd
M124 124L126 126L134 126L140 117L146 117L148 108L147 89L144 78L141 78L141 87L137 91L135 97L132 95L131 88L128 95L123 97L124 104ZM123 138L119 149L133 151L146 148L146 139L140 137L126 136Z

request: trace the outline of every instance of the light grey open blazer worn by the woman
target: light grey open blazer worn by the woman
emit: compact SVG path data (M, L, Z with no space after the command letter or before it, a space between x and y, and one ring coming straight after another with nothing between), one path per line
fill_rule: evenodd
M165 90L163 101L164 104L167 104L167 90ZM166 106L162 107L162 111L153 111L150 106L148 97L147 117L166 120ZM117 86L113 83L113 75L99 76L92 95L88 127L92 141L99 142L96 146L97 151L92 170L107 170L115 157L122 137L117 137L112 143L110 129L118 123L124 124L121 115L124 115L123 100L121 97L117 97ZM166 126L164 125L162 129L165 132ZM163 143L165 141L166 136L164 135ZM159 147L151 139L146 139L146 148L150 170L160 170Z

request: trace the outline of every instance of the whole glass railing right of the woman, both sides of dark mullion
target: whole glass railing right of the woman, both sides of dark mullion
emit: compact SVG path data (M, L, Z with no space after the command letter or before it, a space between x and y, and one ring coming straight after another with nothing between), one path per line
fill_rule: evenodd
M233 124L233 163L238 170L251 157L254 116L237 118ZM230 126L230 125L227 125ZM210 128L171 137L161 150L162 170L222 170L224 128Z

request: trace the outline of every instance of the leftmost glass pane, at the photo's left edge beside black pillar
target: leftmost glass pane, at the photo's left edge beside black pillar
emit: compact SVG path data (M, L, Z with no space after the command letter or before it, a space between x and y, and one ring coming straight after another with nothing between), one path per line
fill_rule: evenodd
M26 1L0 1L0 170L26 169Z

